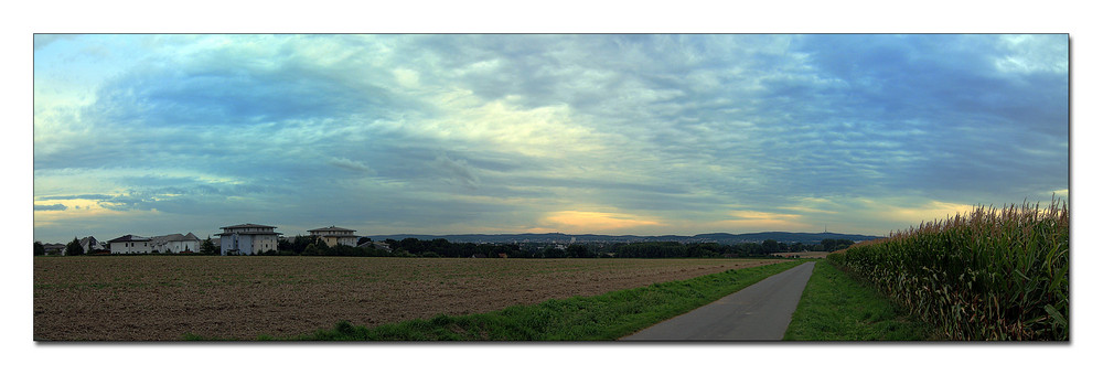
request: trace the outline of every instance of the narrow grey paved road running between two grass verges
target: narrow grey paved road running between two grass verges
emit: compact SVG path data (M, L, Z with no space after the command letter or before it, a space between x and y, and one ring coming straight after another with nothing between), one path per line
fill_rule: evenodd
M814 266L813 261L796 266L621 340L781 340Z

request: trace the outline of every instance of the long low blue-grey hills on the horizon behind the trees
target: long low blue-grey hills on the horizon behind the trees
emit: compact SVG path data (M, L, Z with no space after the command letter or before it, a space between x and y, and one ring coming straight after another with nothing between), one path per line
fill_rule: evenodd
M853 242L880 238L878 236L866 236L866 235L854 235L854 234L842 234L842 233L792 233L792 232L761 232L761 233L745 233L745 234L709 233L709 234L699 234L694 236L675 236L675 235L607 236L607 235L593 235L593 234L571 235L564 233L545 233L545 234L524 233L524 234L495 234L495 235L463 234L463 235L443 235L443 236L396 234L396 235L372 235L365 237L370 237L373 240L384 240L387 238L396 240L401 240L404 238L432 240L437 238L443 238L450 243L475 243L475 244L513 244L513 243L566 244L570 242L576 242L576 243L677 242L683 244L685 243L739 244L739 243L760 243L767 239L773 239L780 243L818 244L821 240L826 238L836 238L836 239L842 238L842 239L849 239Z

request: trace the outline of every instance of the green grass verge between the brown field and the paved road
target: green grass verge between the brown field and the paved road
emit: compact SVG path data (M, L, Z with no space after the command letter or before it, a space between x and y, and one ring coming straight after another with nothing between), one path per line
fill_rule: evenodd
M736 292L802 261L727 270L684 281L655 283L595 297L460 317L438 315L375 328L339 322L295 341L602 341L617 340ZM184 340L210 340L188 335Z

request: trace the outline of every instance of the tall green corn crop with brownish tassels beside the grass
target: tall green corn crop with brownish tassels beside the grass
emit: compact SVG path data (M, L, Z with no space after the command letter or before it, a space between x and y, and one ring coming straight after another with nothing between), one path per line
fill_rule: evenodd
M1069 340L1069 208L976 206L828 260L870 281L944 340Z

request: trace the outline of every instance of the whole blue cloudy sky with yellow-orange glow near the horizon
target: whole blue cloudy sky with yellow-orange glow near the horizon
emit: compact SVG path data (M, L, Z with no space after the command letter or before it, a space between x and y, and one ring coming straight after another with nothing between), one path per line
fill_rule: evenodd
M34 36L34 238L885 235L1069 189L1051 35Z

